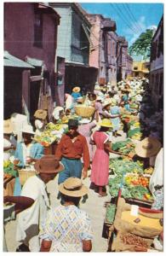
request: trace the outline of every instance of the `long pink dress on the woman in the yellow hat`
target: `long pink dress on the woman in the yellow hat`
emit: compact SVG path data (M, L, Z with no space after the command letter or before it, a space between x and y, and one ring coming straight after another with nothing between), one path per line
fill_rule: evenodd
M95 131L92 139L96 144L90 180L97 186L105 186L109 177L109 153L106 153L104 144L109 137L105 132Z

